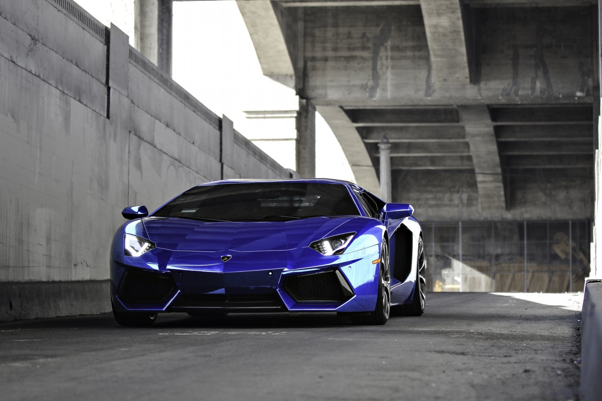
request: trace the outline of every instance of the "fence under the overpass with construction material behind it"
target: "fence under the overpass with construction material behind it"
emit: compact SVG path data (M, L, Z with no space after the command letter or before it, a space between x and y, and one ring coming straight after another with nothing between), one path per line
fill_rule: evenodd
M427 278L435 292L581 291L591 221L427 222Z

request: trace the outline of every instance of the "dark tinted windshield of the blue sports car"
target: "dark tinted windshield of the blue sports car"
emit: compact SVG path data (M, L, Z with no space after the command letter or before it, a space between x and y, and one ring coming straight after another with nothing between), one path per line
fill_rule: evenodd
M342 184L257 182L196 186L153 216L205 221L291 220L359 215Z

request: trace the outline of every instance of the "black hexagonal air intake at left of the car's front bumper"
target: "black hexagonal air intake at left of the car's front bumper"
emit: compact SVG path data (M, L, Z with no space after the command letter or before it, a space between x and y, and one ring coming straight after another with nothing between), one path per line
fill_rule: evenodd
M157 304L167 301L174 289L170 275L129 270L117 295L132 304Z

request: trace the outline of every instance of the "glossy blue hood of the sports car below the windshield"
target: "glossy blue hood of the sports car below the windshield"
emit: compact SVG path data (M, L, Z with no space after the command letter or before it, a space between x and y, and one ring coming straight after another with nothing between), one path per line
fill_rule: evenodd
M356 216L290 221L204 222L181 218L144 218L148 238L173 251L284 251L309 246ZM335 233L333 233L335 234Z

